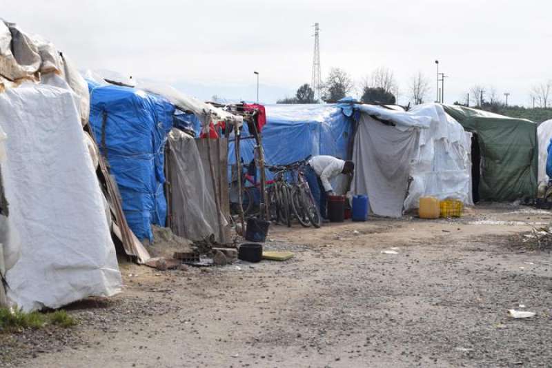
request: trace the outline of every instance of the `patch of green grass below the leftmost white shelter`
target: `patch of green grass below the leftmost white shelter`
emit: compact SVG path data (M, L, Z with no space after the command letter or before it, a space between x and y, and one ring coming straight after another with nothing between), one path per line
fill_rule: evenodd
M0 333L16 332L21 329L41 329L46 325L71 327L77 325L77 320L61 309L51 313L39 311L26 313L19 309L12 312L10 309L0 308Z

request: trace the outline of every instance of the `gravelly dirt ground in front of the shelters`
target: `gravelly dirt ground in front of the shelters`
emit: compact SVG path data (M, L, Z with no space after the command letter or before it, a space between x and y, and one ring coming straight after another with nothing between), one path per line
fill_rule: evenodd
M0 365L551 367L552 257L515 236L551 220L486 205L453 221L273 227L265 248L295 258L123 265L121 295L71 306L73 329L4 336Z

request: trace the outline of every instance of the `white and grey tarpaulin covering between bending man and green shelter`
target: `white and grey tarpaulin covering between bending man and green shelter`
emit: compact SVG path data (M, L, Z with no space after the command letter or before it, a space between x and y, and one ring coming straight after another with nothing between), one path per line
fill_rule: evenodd
M440 105L409 112L375 105L361 114L353 150L353 194L367 194L372 212L400 217L421 196L471 205L471 135ZM408 182L411 182L410 185Z

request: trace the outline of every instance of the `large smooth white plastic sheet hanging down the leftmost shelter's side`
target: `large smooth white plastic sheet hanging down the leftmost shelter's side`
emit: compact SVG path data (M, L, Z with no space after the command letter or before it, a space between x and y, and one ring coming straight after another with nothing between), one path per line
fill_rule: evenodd
M17 244L3 250L8 298L23 310L119 292L102 194L72 92L23 83L0 94L2 176ZM10 241L12 241L10 239Z

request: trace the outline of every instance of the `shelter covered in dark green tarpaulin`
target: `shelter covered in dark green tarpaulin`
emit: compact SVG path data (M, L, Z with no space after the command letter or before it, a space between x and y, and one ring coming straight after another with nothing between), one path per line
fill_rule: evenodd
M515 201L537 193L537 124L459 105L443 105L473 133L474 201Z

